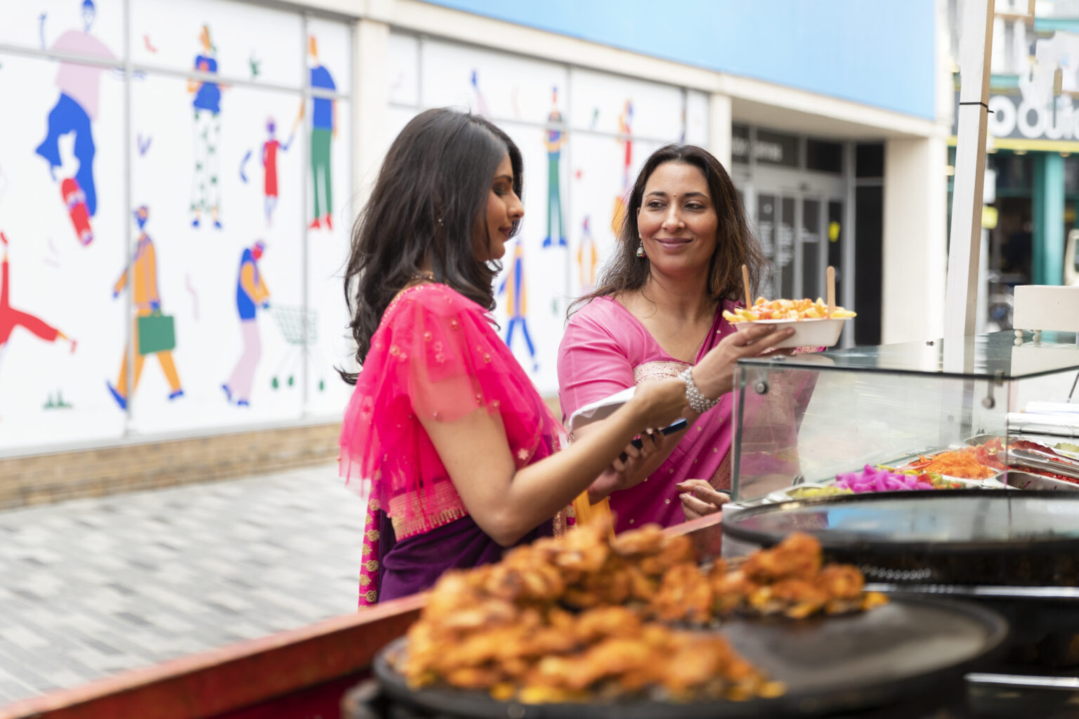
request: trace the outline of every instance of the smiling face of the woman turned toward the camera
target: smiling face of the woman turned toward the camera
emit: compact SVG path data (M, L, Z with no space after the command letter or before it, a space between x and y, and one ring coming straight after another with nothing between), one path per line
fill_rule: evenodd
M708 181L696 165L670 162L656 167L637 210L637 229L654 272L707 273L719 224Z

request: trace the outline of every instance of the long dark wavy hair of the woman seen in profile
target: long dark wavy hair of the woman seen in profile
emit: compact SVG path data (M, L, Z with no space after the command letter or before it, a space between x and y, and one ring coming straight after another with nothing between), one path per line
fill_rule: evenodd
M420 276L424 261L435 280L488 309L501 268L480 262L489 244L484 209L491 180L509 154L514 192L522 195L521 152L498 127L478 115L439 108L413 117L390 146L364 210L352 229L344 298L363 364L371 335L391 300ZM514 222L516 234L519 222ZM341 371L350 384L356 374Z

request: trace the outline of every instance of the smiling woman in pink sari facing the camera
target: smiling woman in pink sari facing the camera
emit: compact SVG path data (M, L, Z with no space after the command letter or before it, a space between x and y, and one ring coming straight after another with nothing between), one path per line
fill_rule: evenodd
M558 358L563 418L653 379L680 376L697 389L685 431L654 435L648 456L617 464L623 488L609 499L623 531L678 524L727 501L735 364L793 330L736 333L722 317L745 296L741 266L756 285L767 261L730 177L705 150L669 144L648 157L618 239L599 289L570 310ZM603 424L582 428L574 441ZM589 501L603 499L599 485L589 489Z

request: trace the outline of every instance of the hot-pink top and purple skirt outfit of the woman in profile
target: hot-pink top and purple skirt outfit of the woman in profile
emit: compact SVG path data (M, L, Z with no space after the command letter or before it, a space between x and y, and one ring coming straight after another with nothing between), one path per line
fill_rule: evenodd
M406 290L371 337L341 428L341 474L351 488L367 484L370 493L361 607L502 556L468 516L420 423L454 421L481 407L502 421L518 469L558 451L558 419L487 310L445 285ZM522 541L552 530L545 522Z

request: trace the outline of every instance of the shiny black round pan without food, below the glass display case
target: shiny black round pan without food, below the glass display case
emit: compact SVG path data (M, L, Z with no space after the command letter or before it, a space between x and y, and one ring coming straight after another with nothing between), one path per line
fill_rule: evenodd
M792 531L869 581L1079 585L1079 493L950 489L800 499L724 517L723 534L771 547Z

